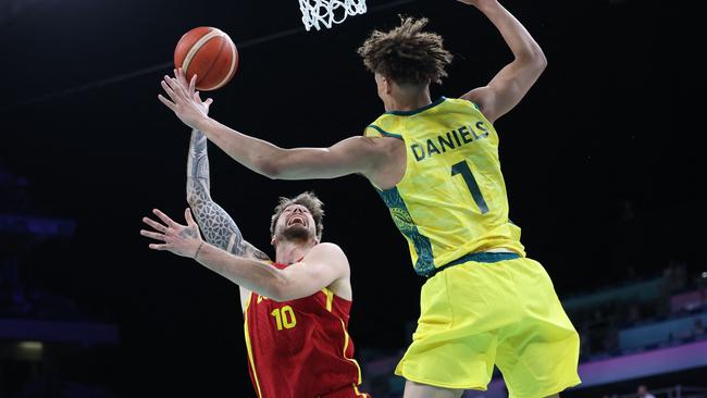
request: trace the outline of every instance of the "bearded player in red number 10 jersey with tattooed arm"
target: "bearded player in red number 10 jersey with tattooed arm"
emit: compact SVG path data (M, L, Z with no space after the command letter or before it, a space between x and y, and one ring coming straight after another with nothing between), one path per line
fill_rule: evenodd
M199 102L208 111L210 101ZM281 198L271 220L275 263L243 238L233 219L210 195L207 137L191 132L186 211L179 225L142 219L161 240L156 250L190 257L240 287L246 347L259 398L369 397L358 391L361 371L347 327L351 308L350 271L334 244L320 244L322 202L310 192Z

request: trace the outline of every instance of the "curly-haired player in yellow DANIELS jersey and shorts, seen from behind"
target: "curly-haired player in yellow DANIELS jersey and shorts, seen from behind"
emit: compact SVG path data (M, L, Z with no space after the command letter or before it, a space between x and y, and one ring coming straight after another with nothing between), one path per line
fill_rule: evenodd
M413 341L396 369L406 398L485 389L494 364L510 396L539 398L580 383L579 337L543 266L508 219L493 123L546 65L528 30L496 0L460 0L498 28L514 59L459 99L432 100L451 55L426 20L374 32L359 49L385 113L330 148L283 149L209 119L186 82L165 76L160 100L247 167L271 178L362 174L408 241L426 282ZM178 71L177 73L182 73ZM190 86L193 87L193 79Z

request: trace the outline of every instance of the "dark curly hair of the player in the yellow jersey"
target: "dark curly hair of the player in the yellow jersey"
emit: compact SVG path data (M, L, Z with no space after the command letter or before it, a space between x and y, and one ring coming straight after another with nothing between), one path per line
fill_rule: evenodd
M374 30L358 49L365 67L399 85L442 83L452 55L444 49L442 36L422 32L427 18L400 16L400 26Z

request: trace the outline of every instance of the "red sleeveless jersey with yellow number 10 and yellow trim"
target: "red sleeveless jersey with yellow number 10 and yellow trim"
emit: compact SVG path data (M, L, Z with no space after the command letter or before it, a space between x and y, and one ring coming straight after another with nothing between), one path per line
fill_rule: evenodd
M350 308L351 301L326 288L282 302L251 293L244 327L258 397L367 397L358 391L361 369L348 335Z

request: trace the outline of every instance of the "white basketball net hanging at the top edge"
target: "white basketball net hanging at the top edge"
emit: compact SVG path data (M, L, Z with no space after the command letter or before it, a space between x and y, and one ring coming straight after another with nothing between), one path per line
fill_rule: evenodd
M365 13L365 0L299 0L299 9L307 30L312 26L319 30L320 25L328 29L349 15Z

